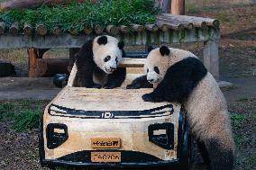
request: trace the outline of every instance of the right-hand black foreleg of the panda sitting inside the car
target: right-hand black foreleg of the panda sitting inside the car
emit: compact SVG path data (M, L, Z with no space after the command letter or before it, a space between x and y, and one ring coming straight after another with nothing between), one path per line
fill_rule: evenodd
M126 68L118 67L113 74L107 76L107 82L104 85L105 89L120 87L126 77Z

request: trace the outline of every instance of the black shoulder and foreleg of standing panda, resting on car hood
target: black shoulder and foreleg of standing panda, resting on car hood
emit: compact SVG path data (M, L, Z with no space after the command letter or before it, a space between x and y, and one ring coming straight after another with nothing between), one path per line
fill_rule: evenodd
M184 103L206 73L206 67L197 58L185 58L169 67L151 97L144 96L143 100Z

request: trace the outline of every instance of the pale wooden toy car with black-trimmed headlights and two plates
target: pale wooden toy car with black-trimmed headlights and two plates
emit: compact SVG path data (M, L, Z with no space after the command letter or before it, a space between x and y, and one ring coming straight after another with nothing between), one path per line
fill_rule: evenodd
M142 58L124 58L121 65L142 66ZM152 89L75 87L76 74L74 65L68 85L41 118L42 166L187 169L188 131L180 104L143 102L142 94Z

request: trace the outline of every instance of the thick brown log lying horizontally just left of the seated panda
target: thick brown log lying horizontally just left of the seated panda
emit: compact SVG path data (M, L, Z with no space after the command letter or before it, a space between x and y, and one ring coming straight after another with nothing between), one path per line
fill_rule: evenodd
M54 76L55 74L68 74L69 59L59 58L39 58L37 59L37 67L35 76Z

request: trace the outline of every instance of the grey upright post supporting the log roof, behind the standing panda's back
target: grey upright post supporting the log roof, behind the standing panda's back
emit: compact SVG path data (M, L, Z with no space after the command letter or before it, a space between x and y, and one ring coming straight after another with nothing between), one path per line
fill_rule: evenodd
M219 51L217 42L214 40L206 41L204 48L204 64L208 71L219 80Z

